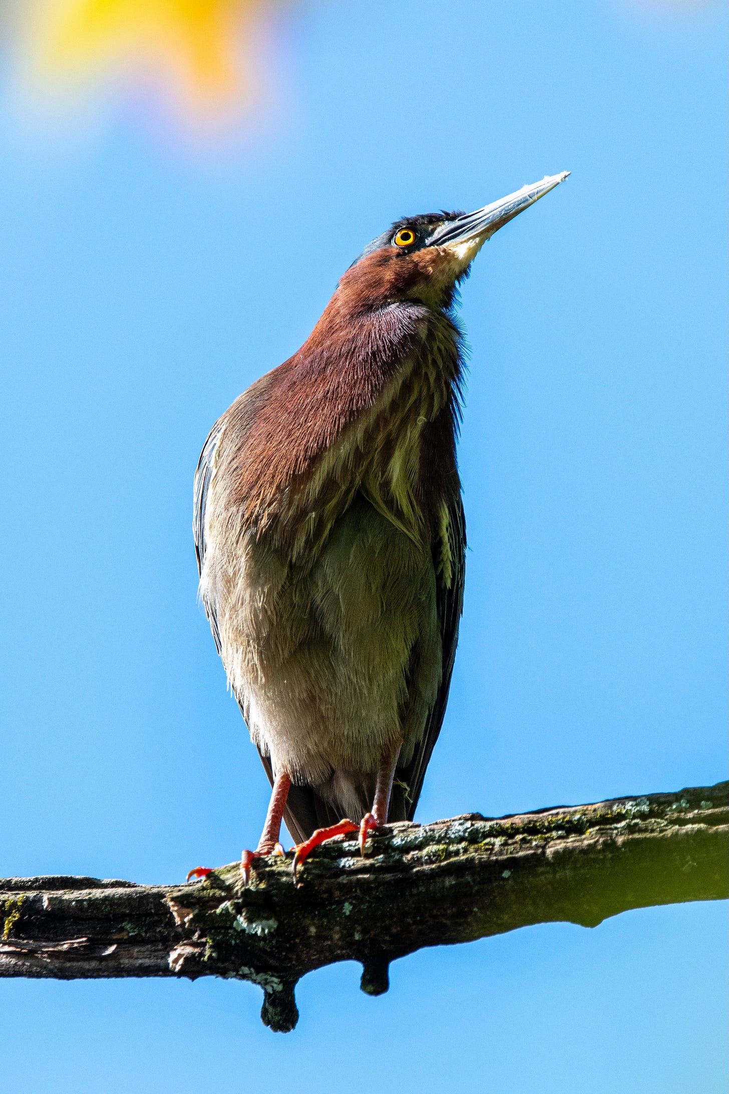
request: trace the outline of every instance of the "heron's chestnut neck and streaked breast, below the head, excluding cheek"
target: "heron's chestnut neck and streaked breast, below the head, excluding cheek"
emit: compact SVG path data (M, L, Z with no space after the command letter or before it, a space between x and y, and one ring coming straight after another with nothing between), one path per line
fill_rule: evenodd
M457 481L459 337L420 303L348 315L334 298L270 374L246 445L249 517L290 548L294 537L295 554L316 554L361 491L426 540L442 481Z

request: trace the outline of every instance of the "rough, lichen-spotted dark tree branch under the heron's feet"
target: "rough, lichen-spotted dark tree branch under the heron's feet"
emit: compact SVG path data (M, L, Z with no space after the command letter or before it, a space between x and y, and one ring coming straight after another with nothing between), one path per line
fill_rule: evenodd
M729 783L498 819L469 814L236 863L204 882L0 881L0 975L224 976L263 989L263 1022L293 1028L296 981L331 962L388 966L421 946L557 920L596 927L631 908L729 895Z

